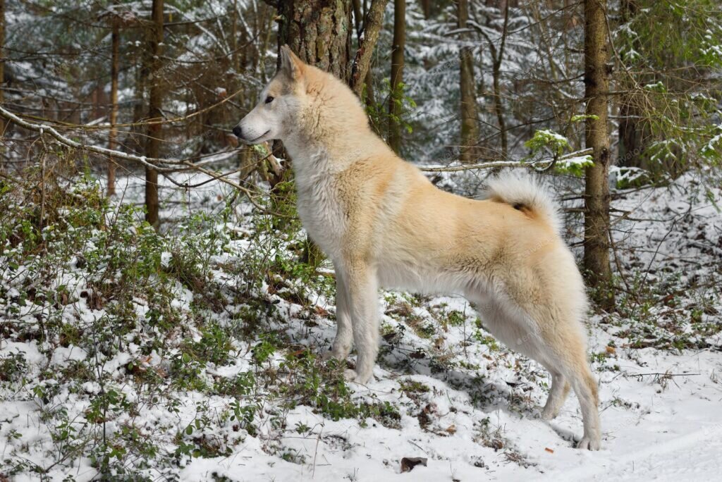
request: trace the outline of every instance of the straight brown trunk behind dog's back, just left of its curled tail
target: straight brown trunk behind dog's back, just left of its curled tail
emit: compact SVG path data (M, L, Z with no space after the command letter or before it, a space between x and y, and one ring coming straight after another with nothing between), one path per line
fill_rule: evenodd
M469 19L468 0L459 0L457 4L458 27L466 28ZM469 35L461 34L461 42ZM474 59L471 48L462 45L459 60L461 62L461 142L459 143L459 159L469 164L477 159L476 144L479 141L479 121L477 119L477 82L474 80Z

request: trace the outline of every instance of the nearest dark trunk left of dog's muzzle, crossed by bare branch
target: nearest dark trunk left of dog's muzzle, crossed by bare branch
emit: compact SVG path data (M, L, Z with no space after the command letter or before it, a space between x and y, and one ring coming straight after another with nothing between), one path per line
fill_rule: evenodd
M146 157L160 157L160 142L162 135L162 54L163 42L163 0L153 0L152 25L150 27L148 48L149 57L149 87L148 101L148 139L145 144ZM155 122L153 122L155 121ZM158 218L158 172L146 167L145 170L145 206L147 209L145 219L152 227L160 227Z

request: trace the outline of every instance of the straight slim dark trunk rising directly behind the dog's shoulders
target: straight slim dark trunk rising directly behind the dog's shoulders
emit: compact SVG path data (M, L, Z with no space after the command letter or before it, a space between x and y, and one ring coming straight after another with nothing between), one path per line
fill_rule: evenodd
M404 82L406 44L406 0L393 0L393 43L391 45L391 93L388 95L388 145L401 152L401 87Z

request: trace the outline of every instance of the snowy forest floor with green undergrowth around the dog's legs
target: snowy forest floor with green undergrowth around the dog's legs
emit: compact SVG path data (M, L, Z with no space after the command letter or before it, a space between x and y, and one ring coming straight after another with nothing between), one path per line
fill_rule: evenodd
M110 205L98 183L72 186L42 237L23 229L30 196L0 201L19 213L0 218L14 233L0 252L0 481L722 472L722 216L694 176L613 203L630 212L614 226L618 309L587 323L599 452L573 448L573 394L539 419L549 375L463 298L382 292L374 378L347 384L346 366L317 356L335 333L333 271L295 261L297 225L230 206L230 188L209 183L165 196L176 227L159 236L118 209L141 199L138 179ZM427 466L401 473L403 457Z

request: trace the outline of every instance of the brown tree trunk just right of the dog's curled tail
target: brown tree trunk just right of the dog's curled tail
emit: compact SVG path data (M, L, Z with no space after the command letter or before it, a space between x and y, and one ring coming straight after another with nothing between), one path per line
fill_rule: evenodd
M584 84L587 100L586 146L594 165L586 168L584 268L601 307L614 304L609 267L609 128L607 96L609 59L606 43L606 0L584 1Z

